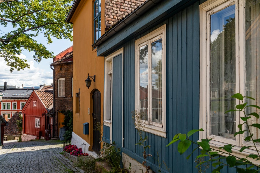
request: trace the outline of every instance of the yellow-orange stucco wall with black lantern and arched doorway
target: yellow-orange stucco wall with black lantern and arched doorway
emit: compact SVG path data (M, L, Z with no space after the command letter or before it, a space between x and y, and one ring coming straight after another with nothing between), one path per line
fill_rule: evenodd
M104 4L104 1L101 2ZM101 33L104 33L104 5L101 6ZM98 89L101 93L101 124L103 124L104 100L104 57L96 56L93 44L93 1L81 1L71 18L73 22L73 132L90 144L93 144L93 104L92 92ZM86 87L85 80L96 75L96 82ZM80 111L76 113L76 97L80 89ZM90 108L90 114L88 114ZM83 134L83 123L90 124L89 135Z

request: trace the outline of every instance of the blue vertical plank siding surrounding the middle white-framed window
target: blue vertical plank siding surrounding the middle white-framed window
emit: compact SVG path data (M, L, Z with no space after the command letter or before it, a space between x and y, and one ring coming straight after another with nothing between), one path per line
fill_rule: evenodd
M166 130L167 138L146 133L147 154L151 169L161 163L161 171L197 172L195 153L189 160L187 153L180 155L177 144L166 145L176 133L187 133L199 128L199 2L174 14L156 27L142 33L124 45L124 149L128 155L142 163L142 147L135 145L139 137L134 128L131 111L135 109L135 40L166 24ZM114 124L114 122L113 122ZM114 133L113 133L114 134ZM194 136L198 139L198 133ZM135 139L135 140L133 140ZM158 155L158 157L157 157ZM179 166L178 166L179 165Z

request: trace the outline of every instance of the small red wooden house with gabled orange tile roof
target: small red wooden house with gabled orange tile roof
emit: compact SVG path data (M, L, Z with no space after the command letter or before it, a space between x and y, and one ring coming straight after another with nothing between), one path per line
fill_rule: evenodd
M23 113L22 141L44 138L45 130L52 131L53 91L33 91Z

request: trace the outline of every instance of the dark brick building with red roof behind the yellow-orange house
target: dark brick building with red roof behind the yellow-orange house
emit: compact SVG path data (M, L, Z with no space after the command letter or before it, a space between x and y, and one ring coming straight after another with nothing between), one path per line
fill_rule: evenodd
M73 110L73 46L53 58L53 137L59 136L63 127L62 111Z

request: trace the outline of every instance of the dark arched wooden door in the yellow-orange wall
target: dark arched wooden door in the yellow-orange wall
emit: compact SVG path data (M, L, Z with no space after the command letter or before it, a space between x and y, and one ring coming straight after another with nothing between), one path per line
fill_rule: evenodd
M93 99L93 146L92 149L99 153L100 151L100 127L101 127L101 93L99 90L94 91Z

